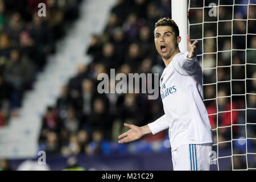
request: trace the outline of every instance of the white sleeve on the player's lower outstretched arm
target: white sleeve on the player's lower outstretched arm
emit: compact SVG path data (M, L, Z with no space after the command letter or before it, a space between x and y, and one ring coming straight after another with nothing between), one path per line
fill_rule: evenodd
M153 135L156 133L159 133L160 131L168 129L169 126L170 126L170 123L167 120L166 114L156 119L156 121L148 124L148 127L150 128Z

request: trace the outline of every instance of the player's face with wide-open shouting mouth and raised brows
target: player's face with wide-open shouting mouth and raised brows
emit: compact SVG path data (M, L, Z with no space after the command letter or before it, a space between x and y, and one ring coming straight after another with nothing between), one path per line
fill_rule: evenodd
M170 26L156 27L154 34L156 50L162 57L170 58L176 51L181 38L176 38L175 32Z

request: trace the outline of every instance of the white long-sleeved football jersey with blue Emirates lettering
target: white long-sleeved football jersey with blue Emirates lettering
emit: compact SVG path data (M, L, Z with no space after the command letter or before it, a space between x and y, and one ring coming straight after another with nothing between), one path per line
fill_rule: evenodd
M197 59L180 52L164 69L160 94L164 115L148 124L152 134L169 128L171 150L184 144L212 143L212 130L203 102L203 72Z

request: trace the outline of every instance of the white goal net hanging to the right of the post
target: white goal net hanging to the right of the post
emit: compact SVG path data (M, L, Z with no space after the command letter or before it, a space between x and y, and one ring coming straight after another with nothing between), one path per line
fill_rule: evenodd
M199 40L212 167L256 169L256 0L190 0L188 32Z

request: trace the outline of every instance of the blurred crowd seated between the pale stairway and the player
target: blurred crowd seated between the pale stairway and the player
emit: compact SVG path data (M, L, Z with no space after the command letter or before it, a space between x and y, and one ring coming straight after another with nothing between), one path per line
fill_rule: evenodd
M143 126L164 114L160 97L99 94L97 76L109 74L110 68L125 75L162 72L164 64L155 50L153 31L160 17L171 16L170 7L166 0L117 1L103 34L93 34L85 50L91 63L78 65L77 75L63 85L56 105L47 108L40 135L43 150L63 155L109 154L108 141L116 142L127 130L123 123ZM145 138L165 137L163 132Z

